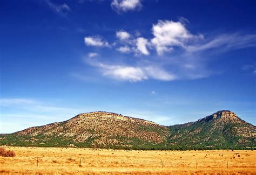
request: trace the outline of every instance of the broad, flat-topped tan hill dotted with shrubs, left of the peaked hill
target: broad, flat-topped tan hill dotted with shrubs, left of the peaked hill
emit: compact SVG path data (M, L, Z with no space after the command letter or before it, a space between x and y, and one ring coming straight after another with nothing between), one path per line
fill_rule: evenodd
M68 121L32 127L2 136L3 144L135 148L166 141L169 129L159 124L102 111L79 114Z

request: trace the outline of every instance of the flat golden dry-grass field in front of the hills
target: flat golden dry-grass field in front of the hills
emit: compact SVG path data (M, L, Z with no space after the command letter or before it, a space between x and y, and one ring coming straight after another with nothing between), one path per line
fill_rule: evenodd
M16 152L16 157L0 157L0 172L7 174L256 174L251 150L5 148Z

